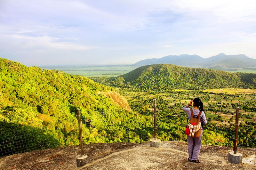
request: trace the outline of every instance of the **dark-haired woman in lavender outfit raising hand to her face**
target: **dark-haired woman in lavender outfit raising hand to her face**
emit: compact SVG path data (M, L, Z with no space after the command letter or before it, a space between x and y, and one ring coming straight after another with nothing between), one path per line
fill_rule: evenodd
M187 135L188 139L188 161L190 162L195 162L195 163L200 163L201 161L198 160L200 148L201 148L201 142L202 142L202 135L203 135L203 128L202 126L207 123L205 114L204 114L204 109L203 109L203 102L199 98L195 98L194 100L191 100L187 106L183 107L184 112L187 113L188 119L190 120L191 118L191 111L190 111L190 106L193 103L193 114L198 115L199 112L201 111L200 115L200 120L201 120L201 135L200 137L190 137Z

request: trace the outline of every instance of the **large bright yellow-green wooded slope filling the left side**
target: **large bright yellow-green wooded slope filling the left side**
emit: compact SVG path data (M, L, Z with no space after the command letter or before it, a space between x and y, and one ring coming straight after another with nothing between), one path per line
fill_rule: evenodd
M127 111L131 110L127 101L110 87L89 78L1 58L0 79L0 156L79 144L77 108L83 118L91 120L95 119L92 114L102 117L101 112L115 113L91 125L93 130L83 126L84 143L140 140L133 126L141 127L142 118ZM122 98L122 103L115 103L115 98ZM24 141L23 137L33 141ZM5 142L12 138L24 149Z

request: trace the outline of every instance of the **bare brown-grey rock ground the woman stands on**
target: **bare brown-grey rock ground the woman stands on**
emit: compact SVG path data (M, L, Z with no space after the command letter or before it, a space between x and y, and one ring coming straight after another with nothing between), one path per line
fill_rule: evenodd
M200 164L187 161L187 143L179 141L161 142L160 149L150 148L149 143L95 143L84 145L88 155L87 165L76 168L76 156L79 147L61 147L21 153L0 158L0 167L17 170L63 169L63 170L149 170L149 169L243 169L256 168L256 149L238 148L242 153L242 163L232 164L227 161L228 152L233 148L216 145L202 145L199 154Z

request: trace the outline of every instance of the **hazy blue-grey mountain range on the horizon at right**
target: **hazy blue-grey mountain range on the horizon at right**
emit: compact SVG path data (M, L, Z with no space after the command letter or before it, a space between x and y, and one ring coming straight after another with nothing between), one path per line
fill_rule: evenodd
M249 58L244 54L218 55L202 58L198 55L168 55L162 58L151 58L136 62L134 65L143 66L151 64L175 64L187 67L211 68L217 70L233 70L256 67L256 59Z

